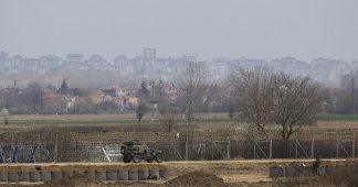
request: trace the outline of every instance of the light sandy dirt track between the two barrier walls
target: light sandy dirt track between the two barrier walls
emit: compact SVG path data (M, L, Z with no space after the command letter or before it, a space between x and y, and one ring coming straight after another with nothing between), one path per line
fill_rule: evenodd
M171 172L171 177L183 173L202 170L214 174L234 186L267 186L272 183L268 177L268 167L286 165L293 162L310 165L314 160L242 160L213 162L170 162L164 165ZM323 164L343 164L346 160L324 160Z

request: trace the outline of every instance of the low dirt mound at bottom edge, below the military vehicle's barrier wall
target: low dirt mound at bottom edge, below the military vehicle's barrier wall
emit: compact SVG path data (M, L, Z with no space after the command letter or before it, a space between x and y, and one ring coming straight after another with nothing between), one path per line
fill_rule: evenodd
M46 182L41 187L106 187L107 185L88 177L71 177Z

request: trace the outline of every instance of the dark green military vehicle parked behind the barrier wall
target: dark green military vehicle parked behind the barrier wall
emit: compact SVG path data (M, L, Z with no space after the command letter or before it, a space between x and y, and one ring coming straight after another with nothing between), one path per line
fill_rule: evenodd
M130 163L131 161L134 163L140 163L141 160L145 160L148 163L152 163L154 161L156 161L157 163L162 162L161 151L154 150L137 140L125 142L120 146L120 153L123 154L124 163Z

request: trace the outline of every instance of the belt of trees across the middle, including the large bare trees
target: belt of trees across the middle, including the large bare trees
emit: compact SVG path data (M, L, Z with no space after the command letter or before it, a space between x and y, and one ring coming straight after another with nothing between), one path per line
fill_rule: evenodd
M207 76L203 64L186 63L172 80L176 84L172 90L167 90L160 79L141 81L135 94L137 105L125 111L110 101L92 102L92 89L70 88L65 79L59 88L31 82L23 89L2 89L0 107L10 113L61 113L63 106L43 97L42 90L51 88L61 95L82 98L66 113L133 112L140 122L145 114L155 112L172 131L178 113L185 114L189 128L194 128L196 113L225 112L229 118L248 122L252 131L262 135L276 127L284 140L316 123L322 114L356 113L356 74L341 76L339 88L266 67L234 69L230 79L221 82L210 82Z

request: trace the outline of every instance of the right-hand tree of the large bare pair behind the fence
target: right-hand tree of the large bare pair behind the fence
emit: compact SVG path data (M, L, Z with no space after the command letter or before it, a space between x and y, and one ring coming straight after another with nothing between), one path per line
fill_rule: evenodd
M305 125L318 121L322 111L320 87L306 77L273 75L272 121L280 125L281 136L288 140Z

